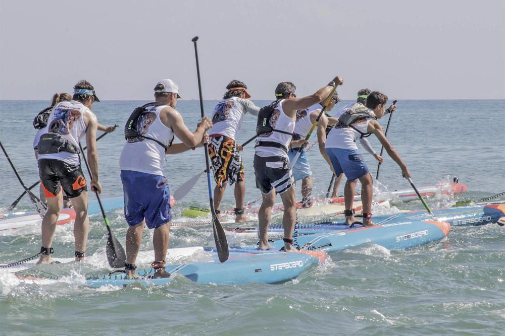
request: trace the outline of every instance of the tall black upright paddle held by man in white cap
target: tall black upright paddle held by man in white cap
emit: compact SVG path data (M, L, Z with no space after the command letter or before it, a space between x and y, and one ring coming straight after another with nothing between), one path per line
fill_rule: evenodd
M200 68L198 65L198 50L196 49L196 41L198 41L198 36L193 37L191 41L194 43L194 57L196 59L196 75L198 77L198 94L200 98L200 112L201 118L204 118L204 100L201 96L201 81L200 81ZM209 188L209 201L212 213L212 231L214 233L214 241L216 242L216 250L218 252L219 261L225 262L229 256L228 242L226 241L226 234L224 232L221 223L216 216L216 210L214 209L214 201L212 199L212 188L211 188L211 170L209 168L209 144L204 141L204 151L205 151L205 166L207 168L207 186Z

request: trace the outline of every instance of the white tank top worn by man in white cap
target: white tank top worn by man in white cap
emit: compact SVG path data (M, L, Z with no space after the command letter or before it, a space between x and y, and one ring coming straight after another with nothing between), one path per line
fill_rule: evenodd
M137 130L141 135L156 139L168 146L174 138L174 131L160 120L160 111L165 107L167 105L147 107L147 113L138 120ZM165 149L160 144L139 137L132 142L128 141L123 147L119 158L119 168L165 176L162 167L165 158Z

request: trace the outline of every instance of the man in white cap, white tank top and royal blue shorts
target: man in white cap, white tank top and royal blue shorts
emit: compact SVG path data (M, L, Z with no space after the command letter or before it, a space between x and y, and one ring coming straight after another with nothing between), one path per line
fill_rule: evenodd
M126 264L128 278L135 277L135 261L144 224L154 229L153 244L155 278L169 277L165 271L165 257L170 233L170 189L163 172L166 154L183 152L203 140L204 133L212 127L205 117L191 132L175 109L179 87L164 79L155 87L155 102L136 108L125 126L127 140L119 166L123 182L125 219L129 225L126 233ZM182 144L174 144L174 135ZM174 147L180 148L174 148Z

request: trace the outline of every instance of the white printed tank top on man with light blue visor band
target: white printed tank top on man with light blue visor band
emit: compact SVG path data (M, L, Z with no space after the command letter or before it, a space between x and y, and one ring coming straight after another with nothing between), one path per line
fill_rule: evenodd
M81 138L86 133L86 124L82 114L90 111L81 102L71 100L64 101L55 106L49 118L44 133L58 133L62 138L70 141L75 147L79 148ZM38 132L37 132L38 133ZM38 144L38 143L37 143ZM60 152L53 154L41 154L38 159L56 159L64 161L71 165L79 165L80 158L78 154L69 152Z

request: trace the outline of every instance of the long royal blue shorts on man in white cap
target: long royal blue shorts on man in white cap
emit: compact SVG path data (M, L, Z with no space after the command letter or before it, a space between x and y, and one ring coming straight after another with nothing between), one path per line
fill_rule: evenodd
M121 182L129 226L145 219L145 225L154 229L172 220L170 188L165 176L121 170Z

